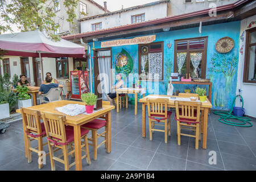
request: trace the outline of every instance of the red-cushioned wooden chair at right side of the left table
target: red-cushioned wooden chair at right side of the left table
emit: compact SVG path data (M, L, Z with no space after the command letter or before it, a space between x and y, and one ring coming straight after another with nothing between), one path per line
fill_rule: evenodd
M102 101L102 105L110 105L109 101ZM97 150L102 144L105 143L105 148L107 148L107 140L108 140L108 127L106 126L106 115L102 115L100 118L102 119L94 119L88 123L85 123L81 126L81 128L92 131L92 137L88 138L88 140L92 143L88 143L90 146L93 146L93 159L97 160ZM104 132L98 134L97 130L101 129L105 126ZM104 141L98 144L97 139L99 137L104 137Z

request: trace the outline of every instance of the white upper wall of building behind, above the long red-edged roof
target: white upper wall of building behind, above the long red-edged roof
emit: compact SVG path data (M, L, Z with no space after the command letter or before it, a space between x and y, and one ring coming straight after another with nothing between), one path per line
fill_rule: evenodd
M161 3L159 5L148 6L140 9L126 11L123 13L84 20L81 22L81 33L92 31L92 24L94 23L102 22L102 29L131 24L132 15L138 15L143 13L145 14L145 21L164 18L167 16L167 3Z

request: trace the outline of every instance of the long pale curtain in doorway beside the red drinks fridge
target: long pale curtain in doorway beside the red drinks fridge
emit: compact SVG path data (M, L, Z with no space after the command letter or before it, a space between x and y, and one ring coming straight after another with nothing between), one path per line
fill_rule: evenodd
M109 56L109 57L105 57L105 56ZM110 50L97 52L102 98L104 100L107 99L106 94L110 93L110 89L111 89L111 57L110 56L111 56Z

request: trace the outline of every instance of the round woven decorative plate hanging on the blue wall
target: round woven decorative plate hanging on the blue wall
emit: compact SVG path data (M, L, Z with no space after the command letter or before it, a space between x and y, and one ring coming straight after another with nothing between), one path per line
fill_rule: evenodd
M215 48L216 51L220 53L227 53L234 48L234 40L228 36L225 36L224 38L221 38L217 41Z

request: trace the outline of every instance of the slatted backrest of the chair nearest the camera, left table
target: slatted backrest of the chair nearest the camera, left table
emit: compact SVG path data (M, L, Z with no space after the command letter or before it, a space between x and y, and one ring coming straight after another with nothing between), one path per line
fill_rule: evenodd
M52 140L67 142L65 133L65 115L42 112L46 135Z

